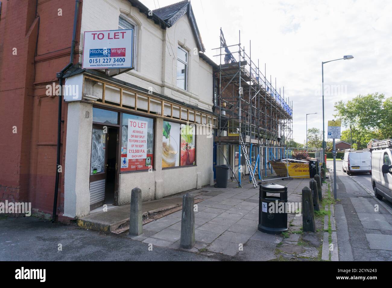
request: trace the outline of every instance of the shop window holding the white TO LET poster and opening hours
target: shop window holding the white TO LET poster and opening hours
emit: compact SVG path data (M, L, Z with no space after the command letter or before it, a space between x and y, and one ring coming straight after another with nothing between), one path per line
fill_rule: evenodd
M131 127L128 125L129 120L131 120ZM142 171L152 168L154 119L123 113L121 143L120 172Z

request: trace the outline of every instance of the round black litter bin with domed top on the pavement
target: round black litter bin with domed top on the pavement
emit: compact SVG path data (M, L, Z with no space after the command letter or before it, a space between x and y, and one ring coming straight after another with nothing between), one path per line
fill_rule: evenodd
M287 187L275 183L261 185L259 182L259 191L258 230L268 234L287 231ZM280 197L267 196L267 193L279 193Z

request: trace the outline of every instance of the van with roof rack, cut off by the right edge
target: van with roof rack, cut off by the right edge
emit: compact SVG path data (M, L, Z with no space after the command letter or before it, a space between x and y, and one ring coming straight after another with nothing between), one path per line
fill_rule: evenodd
M374 196L392 202L392 139L372 144L372 185Z

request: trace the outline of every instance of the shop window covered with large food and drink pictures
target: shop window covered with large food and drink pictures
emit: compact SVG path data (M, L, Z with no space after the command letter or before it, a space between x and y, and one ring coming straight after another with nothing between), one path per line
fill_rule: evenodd
M162 168L196 164L196 128L163 121Z

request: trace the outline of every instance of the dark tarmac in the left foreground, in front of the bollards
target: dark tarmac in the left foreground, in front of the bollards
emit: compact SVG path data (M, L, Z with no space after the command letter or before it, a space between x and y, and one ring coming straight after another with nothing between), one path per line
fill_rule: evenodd
M62 250L59 251L61 245ZM148 245L34 217L0 218L0 261L211 261L200 254Z

